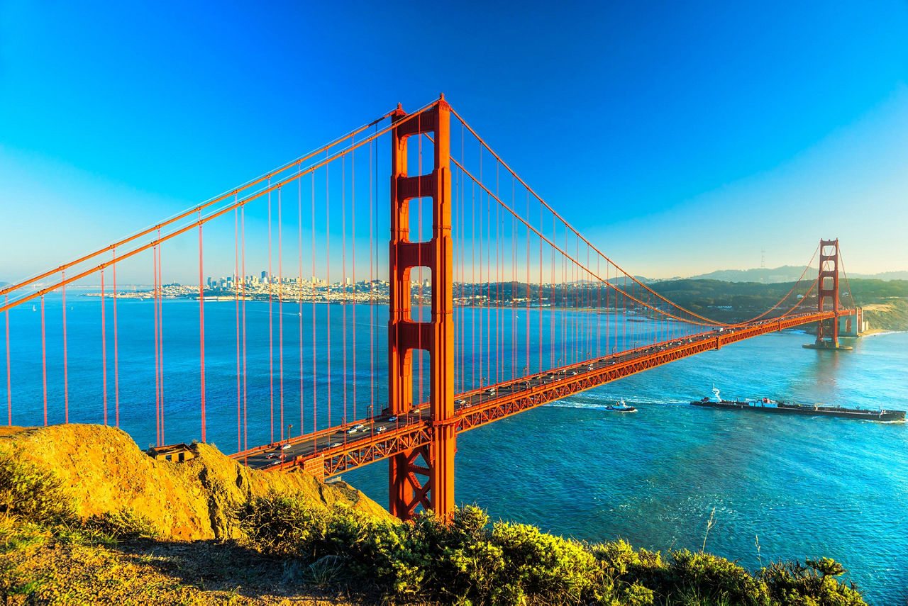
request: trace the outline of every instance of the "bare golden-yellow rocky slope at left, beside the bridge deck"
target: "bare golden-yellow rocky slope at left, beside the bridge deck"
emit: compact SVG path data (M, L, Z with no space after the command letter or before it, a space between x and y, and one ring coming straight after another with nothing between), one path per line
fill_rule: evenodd
M192 445L184 463L154 461L125 432L102 425L4 428L0 450L51 468L83 518L123 509L141 514L162 539L235 538L232 509L250 496L276 491L311 503L347 505L388 516L348 484L323 484L309 474L264 473L234 462L210 445Z

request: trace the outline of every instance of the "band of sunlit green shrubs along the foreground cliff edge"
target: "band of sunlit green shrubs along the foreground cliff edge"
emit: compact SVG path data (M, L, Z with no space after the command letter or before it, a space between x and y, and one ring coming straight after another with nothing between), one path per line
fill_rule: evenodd
M831 560L774 564L754 576L703 552L635 551L627 542L591 546L496 523L476 507L449 523L430 513L411 523L350 508L313 508L277 495L237 513L256 549L287 558L287 582L346 584L387 601L458 604L861 604L836 581ZM817 573L819 572L819 573ZM836 601L837 600L837 601Z

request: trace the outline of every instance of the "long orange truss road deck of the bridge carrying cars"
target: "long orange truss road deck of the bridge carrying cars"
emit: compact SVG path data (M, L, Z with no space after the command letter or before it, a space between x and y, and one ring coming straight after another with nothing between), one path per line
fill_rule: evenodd
M457 431L461 433L488 425L682 357L834 315L832 311L813 312L759 320L742 327L720 328L469 391L456 396ZM316 476L327 477L430 444L431 423L429 406L423 404L408 415L376 415L279 444L262 445L232 454L232 457L257 469L288 471L302 468ZM350 432L353 429L355 431Z

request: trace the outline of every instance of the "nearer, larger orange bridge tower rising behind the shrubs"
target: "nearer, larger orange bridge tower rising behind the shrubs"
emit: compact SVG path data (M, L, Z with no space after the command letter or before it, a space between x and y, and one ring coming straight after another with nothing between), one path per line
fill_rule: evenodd
M431 445L390 459L390 513L410 519L420 505L447 517L454 508L453 259L451 239L450 108L439 97L429 110L408 119L400 105L391 131L390 317L388 320L388 403L393 415L413 407L413 350L429 353ZM433 133L434 162L428 174L410 175L407 142ZM410 239L410 200L431 200L431 239ZM410 272L431 271L431 318L411 317ZM421 404L421 403L418 403ZM420 461L421 459L421 461Z

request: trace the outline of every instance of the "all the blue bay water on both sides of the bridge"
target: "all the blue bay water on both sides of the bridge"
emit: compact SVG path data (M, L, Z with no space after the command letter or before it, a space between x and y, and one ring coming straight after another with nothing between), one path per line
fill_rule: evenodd
M46 371L40 302L10 312L14 425L43 423L44 374L48 422L64 420L63 305L55 295L44 305ZM100 300L71 292L66 308L69 419L102 423ZM275 303L270 312L268 303L248 302L245 398L238 381L236 313L232 302L205 304L206 437L222 451L267 443L282 431L297 435L301 425L306 431L337 425L366 415L368 406L384 406L387 334L380 327L386 326L386 308ZM114 425L118 406L120 426L145 446L157 439L153 302L117 303L116 388L112 314L108 299L107 420ZM464 361L459 382L466 386L479 377L494 382L522 374L525 366L532 372L562 356L569 360L570 347L561 345L572 339L583 341L587 353L604 354L646 342L651 337L646 330L652 329L624 325L607 314L520 308L459 314L459 338L470 347L480 332L487 348L489 340L493 347L516 343L508 345L500 366L489 365L488 354L485 366ZM202 425L198 302L168 300L163 317L162 438L188 441L200 437ZM4 320L0 315L0 330ZM696 331L684 325L656 329L675 335ZM778 559L834 557L869 601L903 603L908 599L908 425L686 404L715 385L724 396L908 409L908 333L863 337L854 341L854 351L839 353L803 349L809 340L797 332L756 337L460 435L457 500L478 504L493 519L533 523L590 542L624 538L636 547L665 551L699 549L706 538L707 551L750 569ZM281 365L281 342L283 381L272 380ZM5 361L0 351L3 407ZM420 388L428 394L428 383L414 385ZM604 410L619 397L638 412ZM245 431L238 427L238 413L247 418ZM385 464L344 479L386 503ZM714 509L716 525L706 536Z

